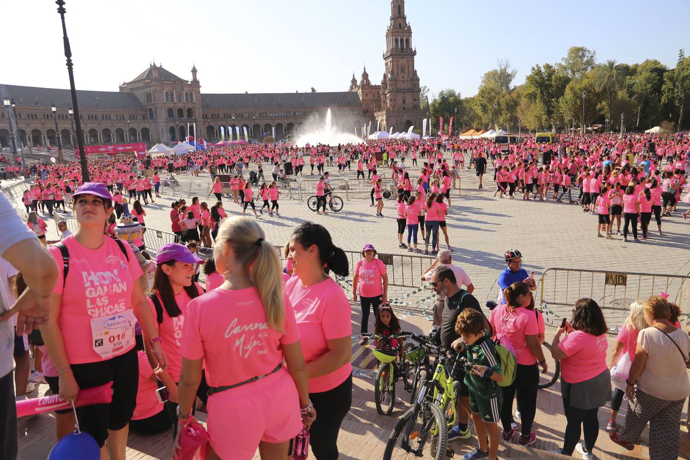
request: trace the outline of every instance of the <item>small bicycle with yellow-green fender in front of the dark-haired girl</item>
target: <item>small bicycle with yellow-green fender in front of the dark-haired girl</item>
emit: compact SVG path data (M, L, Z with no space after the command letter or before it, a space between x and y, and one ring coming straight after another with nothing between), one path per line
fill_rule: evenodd
M393 348L391 340L404 340L411 336L411 332L400 332L382 336L377 334L362 334L362 337L369 337L381 340L383 343L380 348L374 348L374 356L380 362L374 381L374 402L376 412L382 415L390 415L395 405L395 383L402 378L405 391L410 391L410 363L406 359L406 354L400 348Z

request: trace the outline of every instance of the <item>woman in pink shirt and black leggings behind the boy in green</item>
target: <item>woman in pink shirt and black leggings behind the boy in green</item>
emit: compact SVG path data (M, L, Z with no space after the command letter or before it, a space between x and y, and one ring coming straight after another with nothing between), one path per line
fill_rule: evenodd
M537 390L539 370L537 363L546 372L548 366L542 352L540 341L540 323L534 312L534 297L528 284L512 283L503 290L506 303L491 311L489 322L496 337L510 341L517 354L515 381L511 386L502 388L502 407L500 410L503 425L503 440L510 442L515 436L513 423L513 399L517 393L522 435L518 442L521 446L530 446L537 441L532 430L537 410Z

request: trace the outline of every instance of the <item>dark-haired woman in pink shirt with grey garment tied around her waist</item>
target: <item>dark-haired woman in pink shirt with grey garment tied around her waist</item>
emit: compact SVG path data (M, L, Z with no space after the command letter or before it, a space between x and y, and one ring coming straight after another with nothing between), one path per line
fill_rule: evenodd
M568 334L560 341L563 332ZM551 356L561 362L561 395L566 418L563 447L558 453L591 458L599 437L599 408L611 401L611 372L607 366L609 330L599 305L592 299L575 302L573 321L559 328L551 341ZM580 434L584 431L584 442Z

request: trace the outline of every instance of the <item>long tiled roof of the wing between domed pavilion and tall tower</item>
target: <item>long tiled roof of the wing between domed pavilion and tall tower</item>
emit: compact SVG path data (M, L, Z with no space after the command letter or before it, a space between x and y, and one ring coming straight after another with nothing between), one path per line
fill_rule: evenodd
M201 94L204 110L224 108L280 108L359 106L356 92L276 92L255 94Z

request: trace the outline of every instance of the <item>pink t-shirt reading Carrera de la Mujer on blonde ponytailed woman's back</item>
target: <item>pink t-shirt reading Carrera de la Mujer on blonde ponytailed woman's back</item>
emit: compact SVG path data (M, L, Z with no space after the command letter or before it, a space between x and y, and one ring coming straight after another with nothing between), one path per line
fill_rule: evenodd
M182 357L204 359L209 386L268 374L283 360L282 344L299 340L295 312L290 301L284 301L285 321L279 332L268 326L256 288L214 289L193 299L185 314Z

